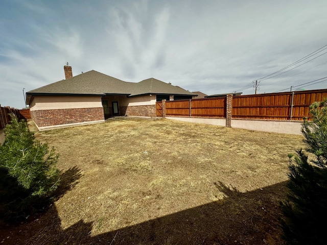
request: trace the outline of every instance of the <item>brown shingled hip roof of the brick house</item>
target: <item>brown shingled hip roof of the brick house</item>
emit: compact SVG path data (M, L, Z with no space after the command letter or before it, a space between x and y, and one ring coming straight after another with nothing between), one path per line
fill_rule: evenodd
M28 91L26 94L27 104L30 103L34 95L196 95L178 86L173 86L154 78L146 79L139 83L132 83L110 77L95 70Z

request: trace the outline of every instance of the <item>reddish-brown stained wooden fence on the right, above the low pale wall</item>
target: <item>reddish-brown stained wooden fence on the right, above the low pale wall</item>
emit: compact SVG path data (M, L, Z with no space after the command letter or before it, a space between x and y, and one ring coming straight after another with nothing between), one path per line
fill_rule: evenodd
M327 89L251 94L157 102L157 116L226 118L230 101L233 119L302 120L311 118L309 106L327 97ZM159 109L158 109L159 108ZM229 107L230 108L230 107Z

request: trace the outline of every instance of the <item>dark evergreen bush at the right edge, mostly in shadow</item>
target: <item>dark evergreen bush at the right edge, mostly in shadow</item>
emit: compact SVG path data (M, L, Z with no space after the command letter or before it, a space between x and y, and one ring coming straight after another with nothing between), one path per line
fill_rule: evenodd
M327 98L310 106L301 132L307 148L289 155L289 193L282 205L284 238L289 244L326 244ZM309 155L309 157L308 157Z

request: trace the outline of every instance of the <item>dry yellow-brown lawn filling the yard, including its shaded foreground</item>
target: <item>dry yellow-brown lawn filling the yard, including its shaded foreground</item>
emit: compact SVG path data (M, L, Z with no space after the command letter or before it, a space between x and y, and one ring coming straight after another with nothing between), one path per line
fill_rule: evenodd
M126 117L36 136L60 154L60 198L5 244L284 244L301 136Z

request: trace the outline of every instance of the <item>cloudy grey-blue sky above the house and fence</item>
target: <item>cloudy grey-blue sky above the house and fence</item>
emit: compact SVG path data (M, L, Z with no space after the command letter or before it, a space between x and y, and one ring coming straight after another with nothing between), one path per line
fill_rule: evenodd
M258 79L258 93L327 88L308 83L327 77L325 45L326 0L1 0L0 104L25 107L23 89L64 79L65 62L73 76L153 77L208 95L251 94Z

